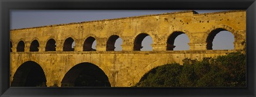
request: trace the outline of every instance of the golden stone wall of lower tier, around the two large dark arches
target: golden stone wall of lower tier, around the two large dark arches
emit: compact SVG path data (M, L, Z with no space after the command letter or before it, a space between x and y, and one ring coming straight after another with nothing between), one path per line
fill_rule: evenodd
M57 83L76 64L89 62L97 65L108 76L111 86L132 86L149 70L167 63L181 63L185 58L201 60L225 55L235 50L198 51L125 51L125 52L16 52L11 53L11 82L22 63L34 61L44 70L47 86Z

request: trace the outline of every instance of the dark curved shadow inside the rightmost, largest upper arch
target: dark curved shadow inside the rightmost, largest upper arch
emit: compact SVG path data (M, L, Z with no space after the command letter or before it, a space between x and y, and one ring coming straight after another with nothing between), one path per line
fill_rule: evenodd
M212 30L211 31L211 33L207 36L207 38L206 38L206 49L207 50L213 50L212 49L212 46L213 46L213 44L212 44L212 42L213 42L213 39L214 39L214 37L217 35L217 34L219 34L220 33L220 31L228 31L228 30L226 30L226 29L223 29L223 28L217 28L217 29L214 29L214 30ZM230 31L229 31L230 32ZM230 32L231 33L231 32ZM234 35L233 35L234 36Z

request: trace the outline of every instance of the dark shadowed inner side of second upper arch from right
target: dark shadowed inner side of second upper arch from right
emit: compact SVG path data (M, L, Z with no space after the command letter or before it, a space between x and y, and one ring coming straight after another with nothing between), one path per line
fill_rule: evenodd
M167 39L167 46L166 46L166 50L167 51L173 51L173 48L175 47L174 45L174 41L175 38L177 38L179 35L181 34L185 34L182 31L174 31Z

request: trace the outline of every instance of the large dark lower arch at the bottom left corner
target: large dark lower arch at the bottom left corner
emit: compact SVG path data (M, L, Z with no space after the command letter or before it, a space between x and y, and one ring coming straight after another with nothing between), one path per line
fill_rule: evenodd
M13 87L45 87L46 78L42 67L34 62L22 63L13 76Z

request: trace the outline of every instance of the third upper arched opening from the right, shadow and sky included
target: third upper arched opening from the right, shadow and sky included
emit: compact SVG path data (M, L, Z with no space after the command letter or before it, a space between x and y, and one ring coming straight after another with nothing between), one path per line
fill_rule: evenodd
M153 39L148 34L139 34L135 38L133 51L152 51L150 44L153 44Z

